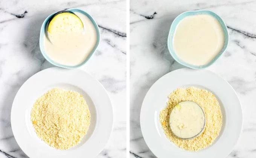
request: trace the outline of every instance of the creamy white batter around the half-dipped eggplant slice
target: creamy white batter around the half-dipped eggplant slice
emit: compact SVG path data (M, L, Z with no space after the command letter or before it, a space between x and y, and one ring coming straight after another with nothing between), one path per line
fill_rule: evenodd
M50 41L44 38L44 49L47 55L59 64L74 66L85 61L97 41L96 29L91 20L84 14L75 12L82 20L84 32L54 33Z

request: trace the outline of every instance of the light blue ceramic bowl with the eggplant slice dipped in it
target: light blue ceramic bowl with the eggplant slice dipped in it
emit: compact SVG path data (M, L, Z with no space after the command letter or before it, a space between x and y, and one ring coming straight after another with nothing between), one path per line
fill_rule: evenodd
M96 29L96 33L97 33L97 41L96 41L96 44L93 48L93 50L91 51L91 53L88 55L88 57L85 59L84 62L82 62L81 64L79 65L75 65L75 66L69 66L69 65L62 65L62 64L59 64L55 61L53 61L46 53L46 51L44 50L44 36L45 36L45 31L46 31L46 24L47 22L49 21L49 19L56 13L53 13L51 15L49 15L49 17L46 18L46 20L44 20L43 24L42 24L42 27L41 27L41 31L40 31L40 41L39 41L39 44L40 44L40 50L41 50L41 53L43 54L44 58L49 61L51 64L55 65L55 66L58 66L58 67L63 67L63 68L78 68L78 67L81 67L82 65L84 65L90 58L91 56L93 55L93 53L95 52L95 50L97 49L97 47L99 46L99 41L100 41L100 38L101 38L101 35L100 35L100 32L99 32L99 27L96 23L96 21L93 19L93 17L91 17L91 15L89 15L87 12L85 11L82 11L81 9L67 9L67 11L72 11L72 12L80 12L84 15L86 15L90 20L91 22L93 23L95 29Z

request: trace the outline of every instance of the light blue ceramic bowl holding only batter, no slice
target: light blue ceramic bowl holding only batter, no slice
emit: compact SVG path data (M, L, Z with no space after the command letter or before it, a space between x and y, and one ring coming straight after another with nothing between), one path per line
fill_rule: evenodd
M224 47L222 48L222 50L219 52L219 54L217 56L215 56L215 58L212 59L212 61L210 61L206 65L197 66L197 65L188 64L188 63L182 61L180 58L178 58L178 56L176 55L176 53L173 49L173 39L174 39L174 33L175 33L177 25L184 17L190 16L190 15L200 15L200 14L212 15L219 21L219 23L221 24L222 30L224 32L225 43L224 43ZM168 35L168 49L169 49L169 52L170 52L172 58L174 58L175 61L177 61L178 63L180 63L186 67L190 67L190 68L194 68L194 69L203 69L203 68L206 68L206 67L209 67L210 65L212 65L222 55L222 53L224 53L226 51L228 44L229 44L229 33L227 30L226 24L224 23L222 18L219 17L219 15L215 14L212 11L208 11L208 10L188 11L188 12L181 13L172 22L172 25L171 25L171 28L169 31L169 35Z

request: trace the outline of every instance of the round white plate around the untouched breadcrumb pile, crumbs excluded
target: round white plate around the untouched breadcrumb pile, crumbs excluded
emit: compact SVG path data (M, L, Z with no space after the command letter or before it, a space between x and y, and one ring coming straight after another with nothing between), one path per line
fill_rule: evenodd
M87 134L67 150L56 149L41 140L30 120L36 100L56 87L81 94L91 115ZM11 125L18 145L30 158L93 158L110 137L113 108L104 87L90 74L79 69L53 67L34 74L21 86L12 104Z

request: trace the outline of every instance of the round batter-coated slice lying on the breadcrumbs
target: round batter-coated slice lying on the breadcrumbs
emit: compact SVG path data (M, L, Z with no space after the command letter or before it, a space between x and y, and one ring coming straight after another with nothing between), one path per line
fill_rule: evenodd
M195 102L180 102L172 109L169 123L172 132L177 137L192 138L200 134L204 128L204 112Z

